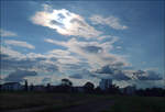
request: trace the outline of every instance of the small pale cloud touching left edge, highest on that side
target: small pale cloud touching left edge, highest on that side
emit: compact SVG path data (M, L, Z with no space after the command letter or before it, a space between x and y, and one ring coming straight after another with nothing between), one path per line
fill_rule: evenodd
M11 32L11 31L4 31L4 30L0 30L0 35L1 35L1 37L13 37L13 36L18 36L16 33Z

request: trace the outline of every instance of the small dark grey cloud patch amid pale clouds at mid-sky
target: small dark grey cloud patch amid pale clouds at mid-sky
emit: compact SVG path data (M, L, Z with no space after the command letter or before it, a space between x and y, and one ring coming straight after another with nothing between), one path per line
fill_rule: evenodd
M102 47L99 47L99 46L85 46L85 47L81 47L81 49L84 49L87 53L99 53L100 51L102 51Z

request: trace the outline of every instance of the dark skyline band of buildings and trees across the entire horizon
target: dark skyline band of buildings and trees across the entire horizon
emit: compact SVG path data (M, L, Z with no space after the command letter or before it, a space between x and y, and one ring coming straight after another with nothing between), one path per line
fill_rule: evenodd
M95 88L92 82L86 82L84 86L74 87L69 79L62 79L62 83L58 86L33 86L29 85L28 80L24 85L20 82L6 82L0 85L0 91L38 91L38 92L80 92L80 93L110 93L110 94L128 94L128 96L150 96L150 97L165 97L165 89L162 88L146 88L136 89L134 86L128 86L125 88L119 88L112 83L112 79L101 79L99 86Z

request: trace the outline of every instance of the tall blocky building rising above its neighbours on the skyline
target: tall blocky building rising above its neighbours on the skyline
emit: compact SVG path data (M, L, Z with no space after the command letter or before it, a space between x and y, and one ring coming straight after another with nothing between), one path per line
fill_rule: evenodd
M101 79L99 87L101 90L106 90L112 86L112 79Z

